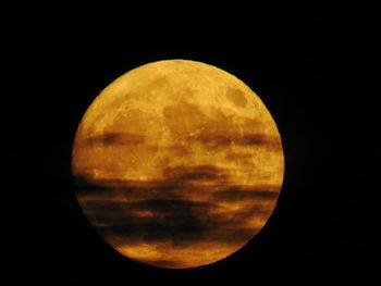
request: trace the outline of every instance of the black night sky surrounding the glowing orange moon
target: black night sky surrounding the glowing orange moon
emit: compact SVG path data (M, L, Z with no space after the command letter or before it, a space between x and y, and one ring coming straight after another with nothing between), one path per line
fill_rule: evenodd
M366 8L52 2L15 4L4 25L10 285L370 281L380 250L379 151ZM272 113L285 152L266 227L228 259L190 270L147 266L106 245L81 213L70 170L94 98L128 70L164 59L206 62L244 80Z

